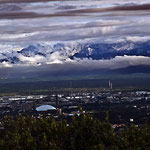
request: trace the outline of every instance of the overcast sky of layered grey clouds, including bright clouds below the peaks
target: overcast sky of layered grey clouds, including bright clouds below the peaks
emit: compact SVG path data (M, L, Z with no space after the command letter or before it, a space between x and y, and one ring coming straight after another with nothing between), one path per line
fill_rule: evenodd
M149 27L149 0L0 0L0 53L12 53L31 44L51 46L60 42L69 44L147 41L150 39ZM31 59L33 62L40 59L49 61L52 56L49 57ZM120 64L122 67L130 64L147 65L150 62L149 58L135 57L117 57L96 63L93 60L80 62L81 66L85 67L89 62L96 68L98 66L115 68ZM56 63L63 63L62 58L59 61L58 57L53 59L56 59ZM69 60L67 63L73 62ZM7 65L2 64L1 67Z

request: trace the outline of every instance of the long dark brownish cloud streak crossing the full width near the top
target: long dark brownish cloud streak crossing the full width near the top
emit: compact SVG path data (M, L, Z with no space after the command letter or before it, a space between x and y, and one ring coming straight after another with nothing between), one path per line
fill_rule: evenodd
M28 0L27 0L28 1ZM36 2L36 0L35 0ZM2 1L0 1L2 3ZM59 8L59 7L58 7ZM60 6L60 8L67 10L75 8L75 6ZM86 13L98 13L98 12L115 12L115 11L140 11L150 10L150 4L134 5L134 6L115 6L107 8L89 8L89 9L76 9L60 11L57 13L35 13L35 12L1 12L0 19L24 19L24 18L42 18L42 17L60 17L60 16L86 16ZM103 15L103 14L102 14ZM112 14L107 14L112 16ZM115 14L116 15L116 14ZM123 15L123 14L121 14ZM130 14L128 14L130 15ZM135 14L134 14L135 15Z

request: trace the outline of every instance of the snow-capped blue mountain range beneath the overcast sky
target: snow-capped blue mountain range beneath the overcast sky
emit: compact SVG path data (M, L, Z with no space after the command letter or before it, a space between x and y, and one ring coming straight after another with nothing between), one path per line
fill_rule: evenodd
M0 63L8 64L47 64L49 62L84 59L110 60L116 56L150 57L150 42L120 43L57 43L53 46L29 45L18 51L0 53ZM59 60L59 61L56 61Z

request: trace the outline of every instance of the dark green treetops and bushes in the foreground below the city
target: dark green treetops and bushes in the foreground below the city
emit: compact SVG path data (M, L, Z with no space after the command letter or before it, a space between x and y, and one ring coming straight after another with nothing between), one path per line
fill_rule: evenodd
M70 124L58 118L5 117L0 130L1 150L148 150L150 126L114 131L91 115L74 116Z

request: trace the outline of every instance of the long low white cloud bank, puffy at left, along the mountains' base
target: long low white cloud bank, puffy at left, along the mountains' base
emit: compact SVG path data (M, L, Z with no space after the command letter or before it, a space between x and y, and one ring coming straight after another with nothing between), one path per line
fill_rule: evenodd
M118 69L118 68L126 68L129 66L137 66L137 65L150 65L150 58L145 56L116 56L110 60L92 60L88 58L80 59L75 58L71 60L66 56L60 56L59 52L55 52L51 57L47 56L44 58L42 56L35 57L19 57L23 64L22 66L32 65L37 66L38 64L43 65L57 65L58 70L60 67L65 67L69 65L69 69L73 69L74 66L78 66L79 68L93 70L93 69ZM37 64L38 63L38 64ZM71 67L72 66L72 67ZM67 69L67 67L65 68ZM57 70L57 68L55 68Z

